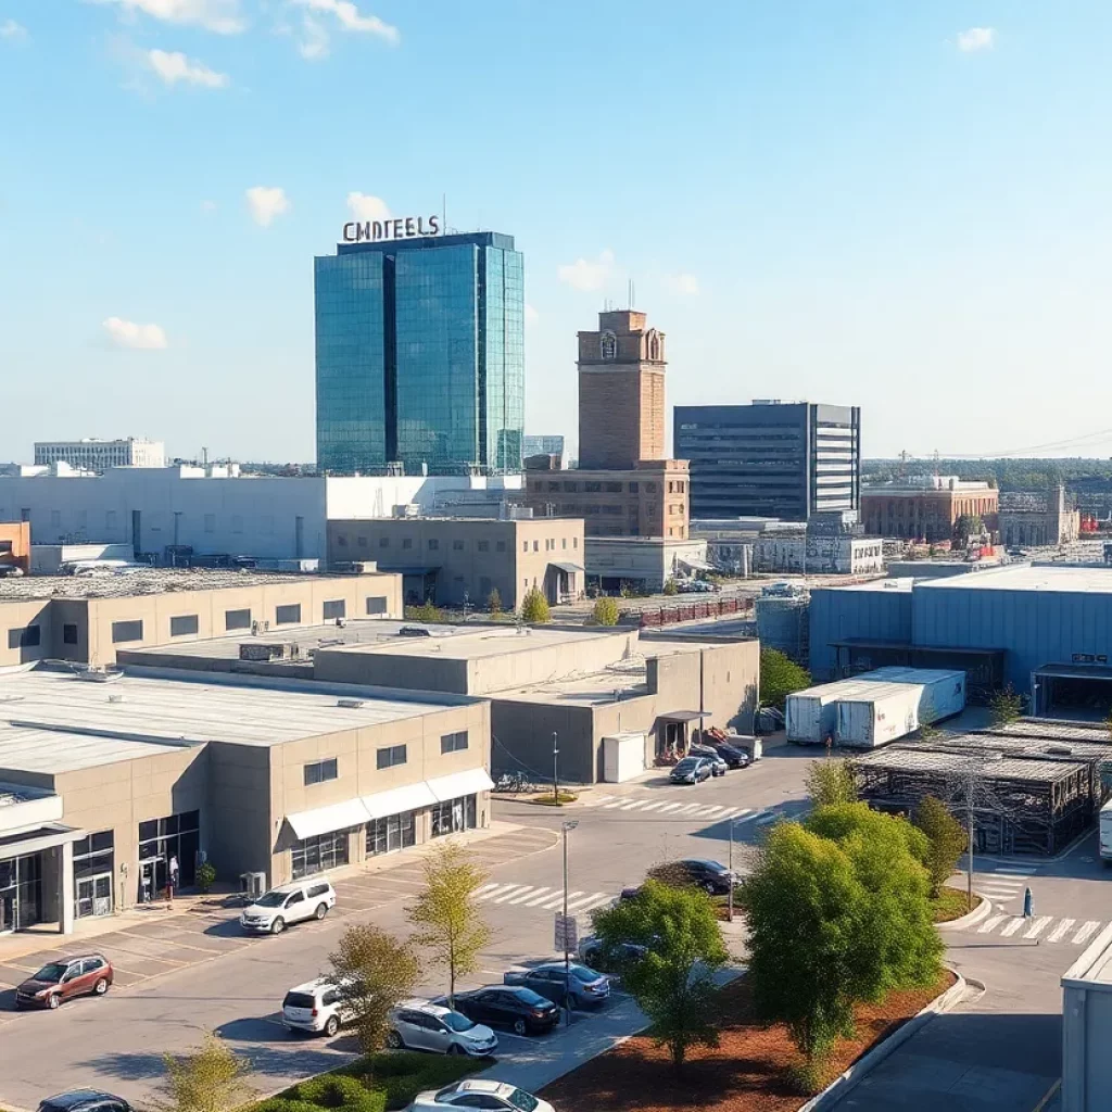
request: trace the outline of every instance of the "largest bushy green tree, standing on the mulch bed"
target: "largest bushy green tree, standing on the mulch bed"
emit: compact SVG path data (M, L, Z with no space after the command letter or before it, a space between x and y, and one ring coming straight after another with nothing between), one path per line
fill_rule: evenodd
M787 1025L812 1084L834 1042L852 1035L858 1003L939 975L926 871L909 848L925 837L902 826L864 804L780 823L742 887L754 1003L765 1022Z

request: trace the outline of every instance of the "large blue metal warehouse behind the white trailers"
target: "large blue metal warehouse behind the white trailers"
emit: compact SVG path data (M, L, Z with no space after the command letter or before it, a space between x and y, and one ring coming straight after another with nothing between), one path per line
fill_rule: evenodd
M811 593L811 671L964 668L970 694L1011 684L1036 714L1112 706L1112 569L1002 567Z

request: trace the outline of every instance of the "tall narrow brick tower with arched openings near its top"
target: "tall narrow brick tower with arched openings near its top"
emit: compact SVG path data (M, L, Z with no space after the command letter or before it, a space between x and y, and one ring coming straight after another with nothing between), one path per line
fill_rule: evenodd
M645 314L598 315L579 332L579 467L623 469L664 458L664 334Z

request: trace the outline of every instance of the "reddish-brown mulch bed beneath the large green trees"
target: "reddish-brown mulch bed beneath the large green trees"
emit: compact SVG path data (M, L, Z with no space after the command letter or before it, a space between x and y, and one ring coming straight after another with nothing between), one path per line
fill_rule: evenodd
M857 1036L838 1044L830 1080L922 1011L955 981L946 971L930 989L893 993L883 1004L857 1012ZM667 1051L647 1035L635 1035L545 1088L539 1095L557 1109L592 1112L796 1112L806 1101L787 1076L800 1061L782 1025L762 1029L744 977L722 993L717 1050L691 1052L677 1076Z

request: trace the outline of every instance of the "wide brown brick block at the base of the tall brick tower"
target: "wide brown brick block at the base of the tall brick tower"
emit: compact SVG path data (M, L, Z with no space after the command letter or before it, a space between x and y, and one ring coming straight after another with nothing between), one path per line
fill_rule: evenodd
M688 536L685 459L643 459L626 470L527 470L525 504L535 517L582 517L588 537Z

